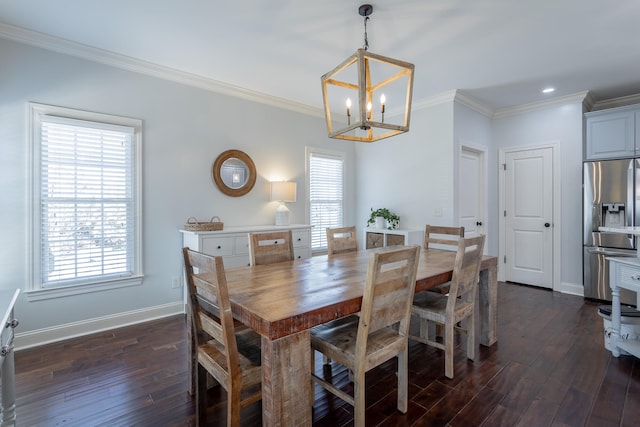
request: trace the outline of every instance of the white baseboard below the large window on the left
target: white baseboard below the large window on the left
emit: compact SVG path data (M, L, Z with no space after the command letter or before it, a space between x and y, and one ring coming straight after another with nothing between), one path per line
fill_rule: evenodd
M150 320L161 319L163 317L174 316L184 313L182 301L170 304L147 307L140 310L127 311L112 314L109 316L95 317L80 322L66 323L64 325L52 326L50 328L37 329L34 331L17 333L15 335L15 350L38 347L58 341L76 338L96 332L108 331L110 329L121 328L123 326L148 322Z

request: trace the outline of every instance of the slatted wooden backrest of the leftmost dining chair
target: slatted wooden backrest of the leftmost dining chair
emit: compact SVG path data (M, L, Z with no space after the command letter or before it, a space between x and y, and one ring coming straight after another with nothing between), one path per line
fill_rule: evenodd
M214 339L224 354L225 363L213 369L226 371L229 377L240 372L231 303L222 257L183 249L189 291L189 314L193 339L203 345Z

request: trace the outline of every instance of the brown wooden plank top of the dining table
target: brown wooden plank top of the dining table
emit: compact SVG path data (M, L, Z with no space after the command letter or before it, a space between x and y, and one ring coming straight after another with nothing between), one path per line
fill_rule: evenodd
M275 340L357 313L373 250L229 269L234 317ZM451 280L454 258L453 251L422 249L416 292ZM482 269L496 264L485 256Z

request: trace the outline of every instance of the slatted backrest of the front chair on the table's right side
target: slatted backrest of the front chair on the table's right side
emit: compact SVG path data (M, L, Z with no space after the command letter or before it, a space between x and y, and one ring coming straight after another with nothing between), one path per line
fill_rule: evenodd
M419 255L417 245L371 253L360 311L359 347L366 347L367 336L387 326L399 324L399 334L406 335Z

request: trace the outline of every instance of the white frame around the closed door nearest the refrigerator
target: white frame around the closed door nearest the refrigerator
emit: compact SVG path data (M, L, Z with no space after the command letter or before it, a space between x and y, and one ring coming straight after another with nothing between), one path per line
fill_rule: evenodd
M552 273L551 273L551 289L554 291L560 290L560 265L561 265L561 239L562 235L562 221L561 221L561 206L560 206L560 191L562 189L560 185L560 145L559 141L549 141L539 145L527 145L527 146L515 146L515 147L503 147L498 150L498 280L504 281L505 272L504 268L500 268L500 264L504 265L505 248L506 248L506 219L504 211L506 209L506 194L505 194L505 170L504 165L506 162L507 153L516 153L519 151L540 150L544 148L551 148L551 170L553 171L553 257L552 257ZM502 262L500 262L502 260Z

